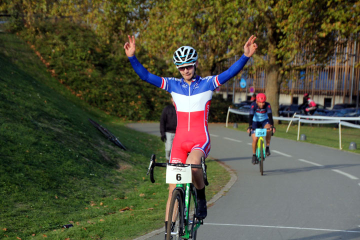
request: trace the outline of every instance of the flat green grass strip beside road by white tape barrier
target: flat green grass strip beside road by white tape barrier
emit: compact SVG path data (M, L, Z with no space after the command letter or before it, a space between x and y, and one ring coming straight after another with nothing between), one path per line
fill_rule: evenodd
M232 126L230 123L228 124ZM248 123L238 123L236 130L246 131ZM297 123L292 123L286 132L288 122L283 122L282 124L276 124L276 133L274 136L282 137L291 140L297 140ZM335 124L304 124L300 126L299 135L305 134L306 140L304 142L309 142L313 144L329 146L339 149L339 129L335 127ZM351 151L360 153L360 129L351 128L351 127L341 127L341 147L342 150ZM348 147L350 142L355 142L357 148L354 150L349 150Z

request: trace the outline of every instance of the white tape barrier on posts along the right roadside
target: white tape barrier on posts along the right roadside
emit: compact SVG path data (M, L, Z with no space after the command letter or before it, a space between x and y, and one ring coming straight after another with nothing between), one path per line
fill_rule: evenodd
M229 113L235 113L240 115L248 115L248 111L240 111L238 109L234 109L229 107L227 110L227 116L226 116L226 127L228 122L228 116ZM310 116L310 115L296 115L296 113L293 114L292 117L283 117L283 116L273 116L273 119L281 120L281 121L289 121L289 124L287 126L286 132L288 131L288 128L291 125L291 122L297 121L298 127L297 127L297 140L299 139L300 135L300 123L314 123L314 124L329 124L329 123L337 123L338 129L339 129L339 149L342 149L341 147L341 125L358 128L360 129L360 125L353 124L347 121L360 121L360 116L340 116L340 117L334 117L334 116Z

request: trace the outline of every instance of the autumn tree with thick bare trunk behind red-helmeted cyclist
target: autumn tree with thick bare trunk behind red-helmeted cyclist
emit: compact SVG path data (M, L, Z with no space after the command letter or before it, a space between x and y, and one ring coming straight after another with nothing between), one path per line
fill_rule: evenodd
M267 73L265 92L274 112L280 84L291 77L291 70L326 62L336 45L359 31L359 1L248 0L245 4L244 18L254 23L260 37L258 54L266 56L257 59ZM301 60L294 61L296 57Z

